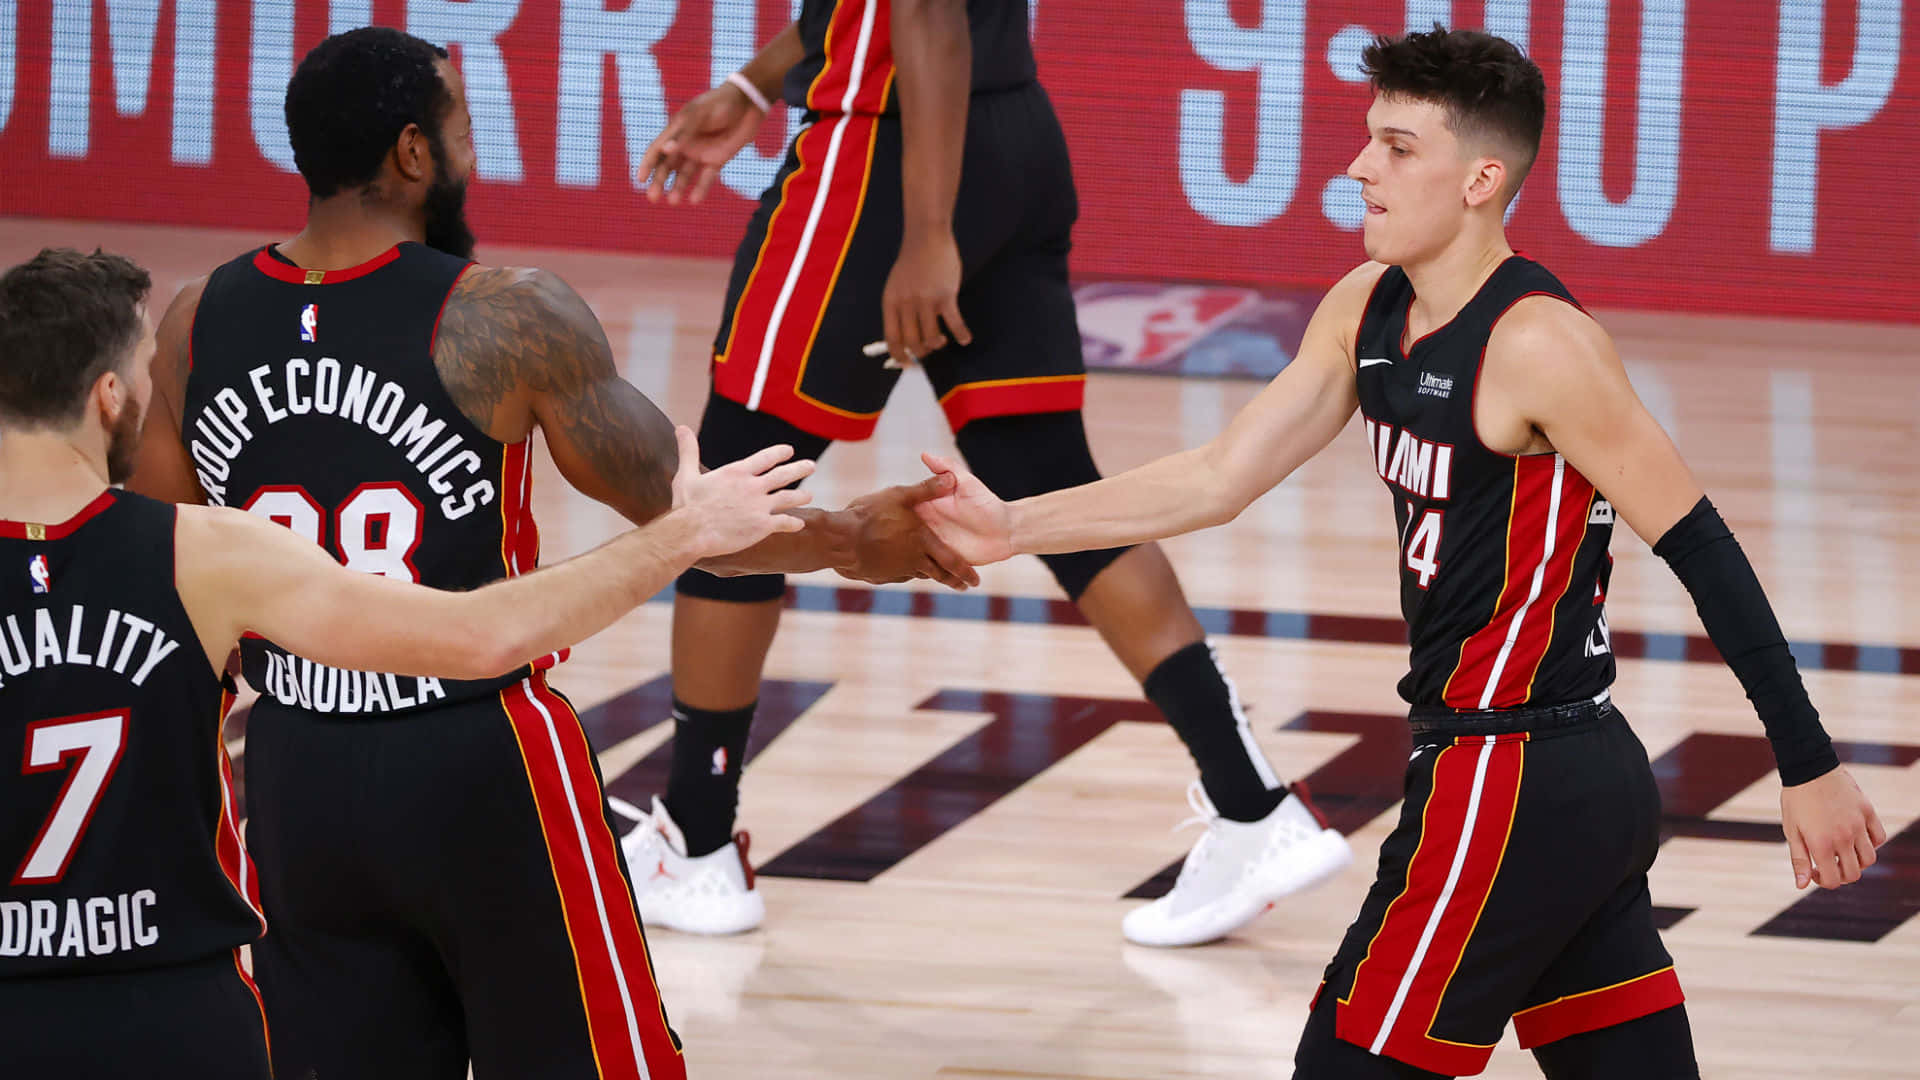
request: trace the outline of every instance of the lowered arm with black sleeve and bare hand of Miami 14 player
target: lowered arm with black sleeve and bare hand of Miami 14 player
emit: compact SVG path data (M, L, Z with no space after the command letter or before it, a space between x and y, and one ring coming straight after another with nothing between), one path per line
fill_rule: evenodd
M1880 817L1839 765L1753 565L1640 404L1607 332L1559 300L1517 304L1488 342L1478 423L1509 425L1517 446L1546 436L1667 559L1766 728L1795 884L1859 880L1885 840Z

